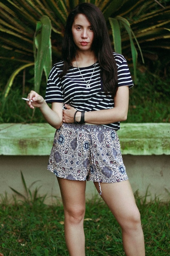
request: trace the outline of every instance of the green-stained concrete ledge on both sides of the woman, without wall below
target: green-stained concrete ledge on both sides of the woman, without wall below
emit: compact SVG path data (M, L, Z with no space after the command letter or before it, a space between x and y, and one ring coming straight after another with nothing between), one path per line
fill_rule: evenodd
M0 155L49 155L55 129L49 124L0 124ZM121 123L122 155L170 155L170 124Z

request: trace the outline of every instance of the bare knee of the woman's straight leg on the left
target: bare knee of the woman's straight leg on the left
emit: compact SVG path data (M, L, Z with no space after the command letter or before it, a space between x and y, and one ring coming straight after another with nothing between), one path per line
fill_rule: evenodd
M85 208L84 207L73 207L65 210L65 220L72 224L78 224L84 220Z

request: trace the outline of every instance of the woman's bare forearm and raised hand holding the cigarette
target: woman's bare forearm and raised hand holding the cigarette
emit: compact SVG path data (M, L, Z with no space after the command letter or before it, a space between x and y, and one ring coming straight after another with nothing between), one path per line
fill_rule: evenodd
M36 93L35 91L31 91L28 96L29 100L32 99L33 102L28 101L27 104L30 108L40 108L42 115L46 119L46 121L56 129L59 129L62 125L62 107L63 103L53 102L52 107L50 108L44 98Z

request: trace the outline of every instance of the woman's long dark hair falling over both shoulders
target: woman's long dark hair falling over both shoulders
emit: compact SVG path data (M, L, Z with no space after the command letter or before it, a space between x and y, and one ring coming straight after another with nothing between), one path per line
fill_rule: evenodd
M67 18L62 43L64 69L61 76L66 74L71 65L71 61L76 54L76 47L72 36L72 25L75 16L80 13L86 16L94 31L94 39L91 50L93 50L99 61L104 91L106 93L111 92L114 97L117 92L117 65L113 57L113 49L111 47L108 29L103 13L94 4L82 3L77 5L77 7L71 11Z

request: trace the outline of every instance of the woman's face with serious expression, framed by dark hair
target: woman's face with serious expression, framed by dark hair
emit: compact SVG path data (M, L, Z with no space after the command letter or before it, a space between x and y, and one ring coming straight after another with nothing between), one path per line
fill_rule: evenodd
M84 14L77 14L72 25L73 41L80 51L91 51L94 32Z

